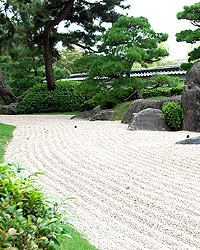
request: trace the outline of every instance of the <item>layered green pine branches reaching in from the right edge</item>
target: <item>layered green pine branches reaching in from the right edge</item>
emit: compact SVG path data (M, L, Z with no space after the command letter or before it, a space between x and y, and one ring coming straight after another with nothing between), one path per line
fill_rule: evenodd
M190 23L196 27L195 30L183 30L176 34L178 42L187 42L195 44L200 41L200 3L195 3L191 6L184 6L184 11L177 13L178 19L189 20ZM194 48L188 53L188 62L182 64L182 68L189 70L193 62L200 58L200 47Z

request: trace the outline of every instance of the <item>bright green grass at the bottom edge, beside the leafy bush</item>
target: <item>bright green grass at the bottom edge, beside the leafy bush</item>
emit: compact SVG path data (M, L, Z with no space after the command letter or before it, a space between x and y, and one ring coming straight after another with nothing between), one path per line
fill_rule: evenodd
M77 232L73 227L67 226L66 230L72 236L71 239L62 239L59 241L61 246L58 246L57 250L98 250L95 246L90 245L88 240Z

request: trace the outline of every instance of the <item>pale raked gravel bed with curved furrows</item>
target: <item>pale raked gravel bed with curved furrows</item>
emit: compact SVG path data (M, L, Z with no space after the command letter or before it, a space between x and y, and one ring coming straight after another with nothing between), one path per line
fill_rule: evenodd
M200 249L200 145L175 144L199 134L69 118L1 115L17 126L5 160L44 172L45 192L76 197L74 225L101 250Z

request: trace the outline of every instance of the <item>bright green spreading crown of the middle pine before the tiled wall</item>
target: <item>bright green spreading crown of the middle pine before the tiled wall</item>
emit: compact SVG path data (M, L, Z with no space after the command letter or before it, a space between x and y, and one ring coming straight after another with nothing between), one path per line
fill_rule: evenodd
M124 86L138 89L141 82L130 77L133 63L146 67L167 56L165 48L158 47L167 38L167 34L154 32L145 17L120 17L110 29L97 36L99 54L87 55L91 60L87 64L86 85L105 90Z

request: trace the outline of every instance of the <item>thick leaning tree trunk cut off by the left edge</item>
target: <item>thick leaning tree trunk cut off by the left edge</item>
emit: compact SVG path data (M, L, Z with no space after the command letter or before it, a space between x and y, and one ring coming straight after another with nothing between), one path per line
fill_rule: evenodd
M12 102L16 102L17 100L17 97L13 94L12 90L4 80L1 69L0 69L0 96L2 97L6 105L9 105Z

